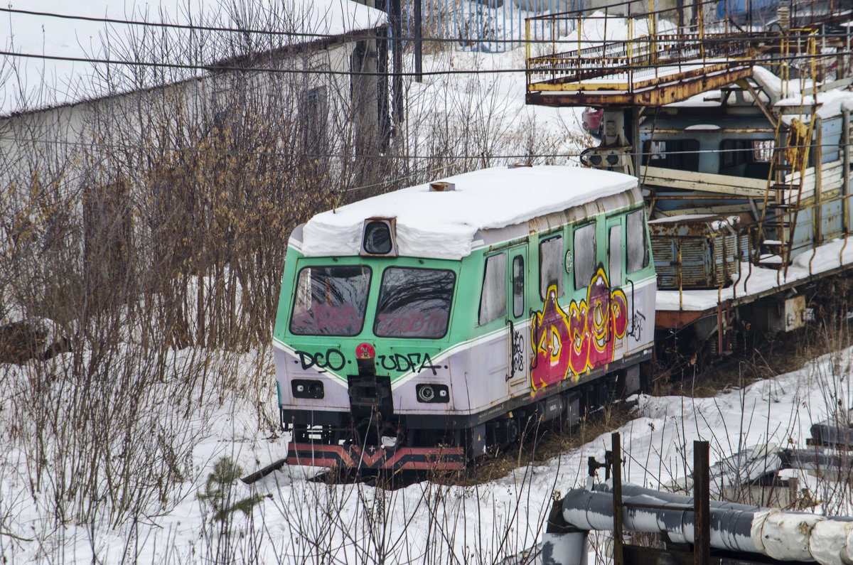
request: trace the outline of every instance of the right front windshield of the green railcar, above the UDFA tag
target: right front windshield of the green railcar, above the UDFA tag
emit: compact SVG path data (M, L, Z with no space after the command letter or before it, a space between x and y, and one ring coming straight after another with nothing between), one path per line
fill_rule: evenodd
M374 334L438 338L447 333L456 275L438 269L389 267L382 274Z

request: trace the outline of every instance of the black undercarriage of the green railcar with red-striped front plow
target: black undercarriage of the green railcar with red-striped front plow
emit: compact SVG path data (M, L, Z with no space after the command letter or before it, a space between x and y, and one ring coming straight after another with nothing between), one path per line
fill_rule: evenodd
M350 412L281 411L282 428L293 438L287 463L364 471L465 469L540 426L572 428L587 414L639 391L640 364L650 359L646 352L583 382L549 387L532 400L509 399L492 407L490 417L395 414L389 378L361 376L350 383Z

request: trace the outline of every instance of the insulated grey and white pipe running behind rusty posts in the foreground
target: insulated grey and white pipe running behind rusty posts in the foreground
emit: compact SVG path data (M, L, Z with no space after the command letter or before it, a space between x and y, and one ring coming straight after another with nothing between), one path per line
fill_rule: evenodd
M610 486L575 489L563 498L563 519L582 530L612 530ZM664 533L673 542L693 543L693 498L641 486L622 486L625 530ZM853 563L853 519L711 500L711 547L757 553L780 560Z

